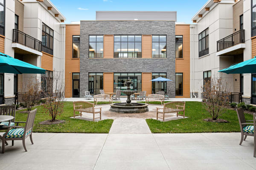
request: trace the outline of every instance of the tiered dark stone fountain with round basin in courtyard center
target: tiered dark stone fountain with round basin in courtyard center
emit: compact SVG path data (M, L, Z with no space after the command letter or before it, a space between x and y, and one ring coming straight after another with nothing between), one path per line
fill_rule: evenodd
M130 81L128 78L128 81L125 82L125 85L127 86L127 90L122 91L122 93L127 95L126 103L114 103L111 104L111 108L109 111L117 112L117 113L143 113L148 111L148 105L144 103L131 103L130 96L137 91L132 91L130 85L133 82Z

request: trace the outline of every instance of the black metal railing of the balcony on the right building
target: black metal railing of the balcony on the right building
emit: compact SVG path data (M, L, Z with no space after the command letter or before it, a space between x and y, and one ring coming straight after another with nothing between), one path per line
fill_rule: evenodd
M236 31L235 33L217 41L217 51L224 50L236 44L244 43L244 29Z

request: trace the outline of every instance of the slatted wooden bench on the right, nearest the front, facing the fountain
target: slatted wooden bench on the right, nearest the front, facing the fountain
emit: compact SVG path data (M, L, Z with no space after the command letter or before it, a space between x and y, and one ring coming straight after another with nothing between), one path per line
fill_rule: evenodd
M163 108L157 108L157 120L163 119L164 114L166 113L177 113L177 116L183 116L185 118L185 104L186 102L168 102L163 105ZM183 111L183 115L179 114L180 111ZM158 117L158 114L163 114L163 117Z

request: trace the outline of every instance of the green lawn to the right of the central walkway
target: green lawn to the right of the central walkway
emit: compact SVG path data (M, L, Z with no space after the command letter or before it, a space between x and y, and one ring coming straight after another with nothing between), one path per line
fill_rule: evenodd
M160 105L160 102L149 102L149 104ZM205 122L203 119L210 118L210 116L204 110L202 103L186 102L185 116L189 118L169 122L146 119L146 122L152 133L240 132L236 111L230 109L227 109L226 113L219 117L227 120L228 123ZM245 119L252 120L253 116L245 113Z

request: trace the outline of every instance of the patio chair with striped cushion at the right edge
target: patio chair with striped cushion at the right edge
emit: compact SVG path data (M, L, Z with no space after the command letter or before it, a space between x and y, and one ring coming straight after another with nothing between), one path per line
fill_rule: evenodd
M243 140L247 138L247 136L253 136L254 137L254 151L253 151L253 157L256 157L256 114L253 114L253 120L245 120L244 117L244 110L242 108L236 109L236 113L239 120L240 130L241 130L241 140L240 145L242 144ZM247 122L253 122L253 123L247 123Z

